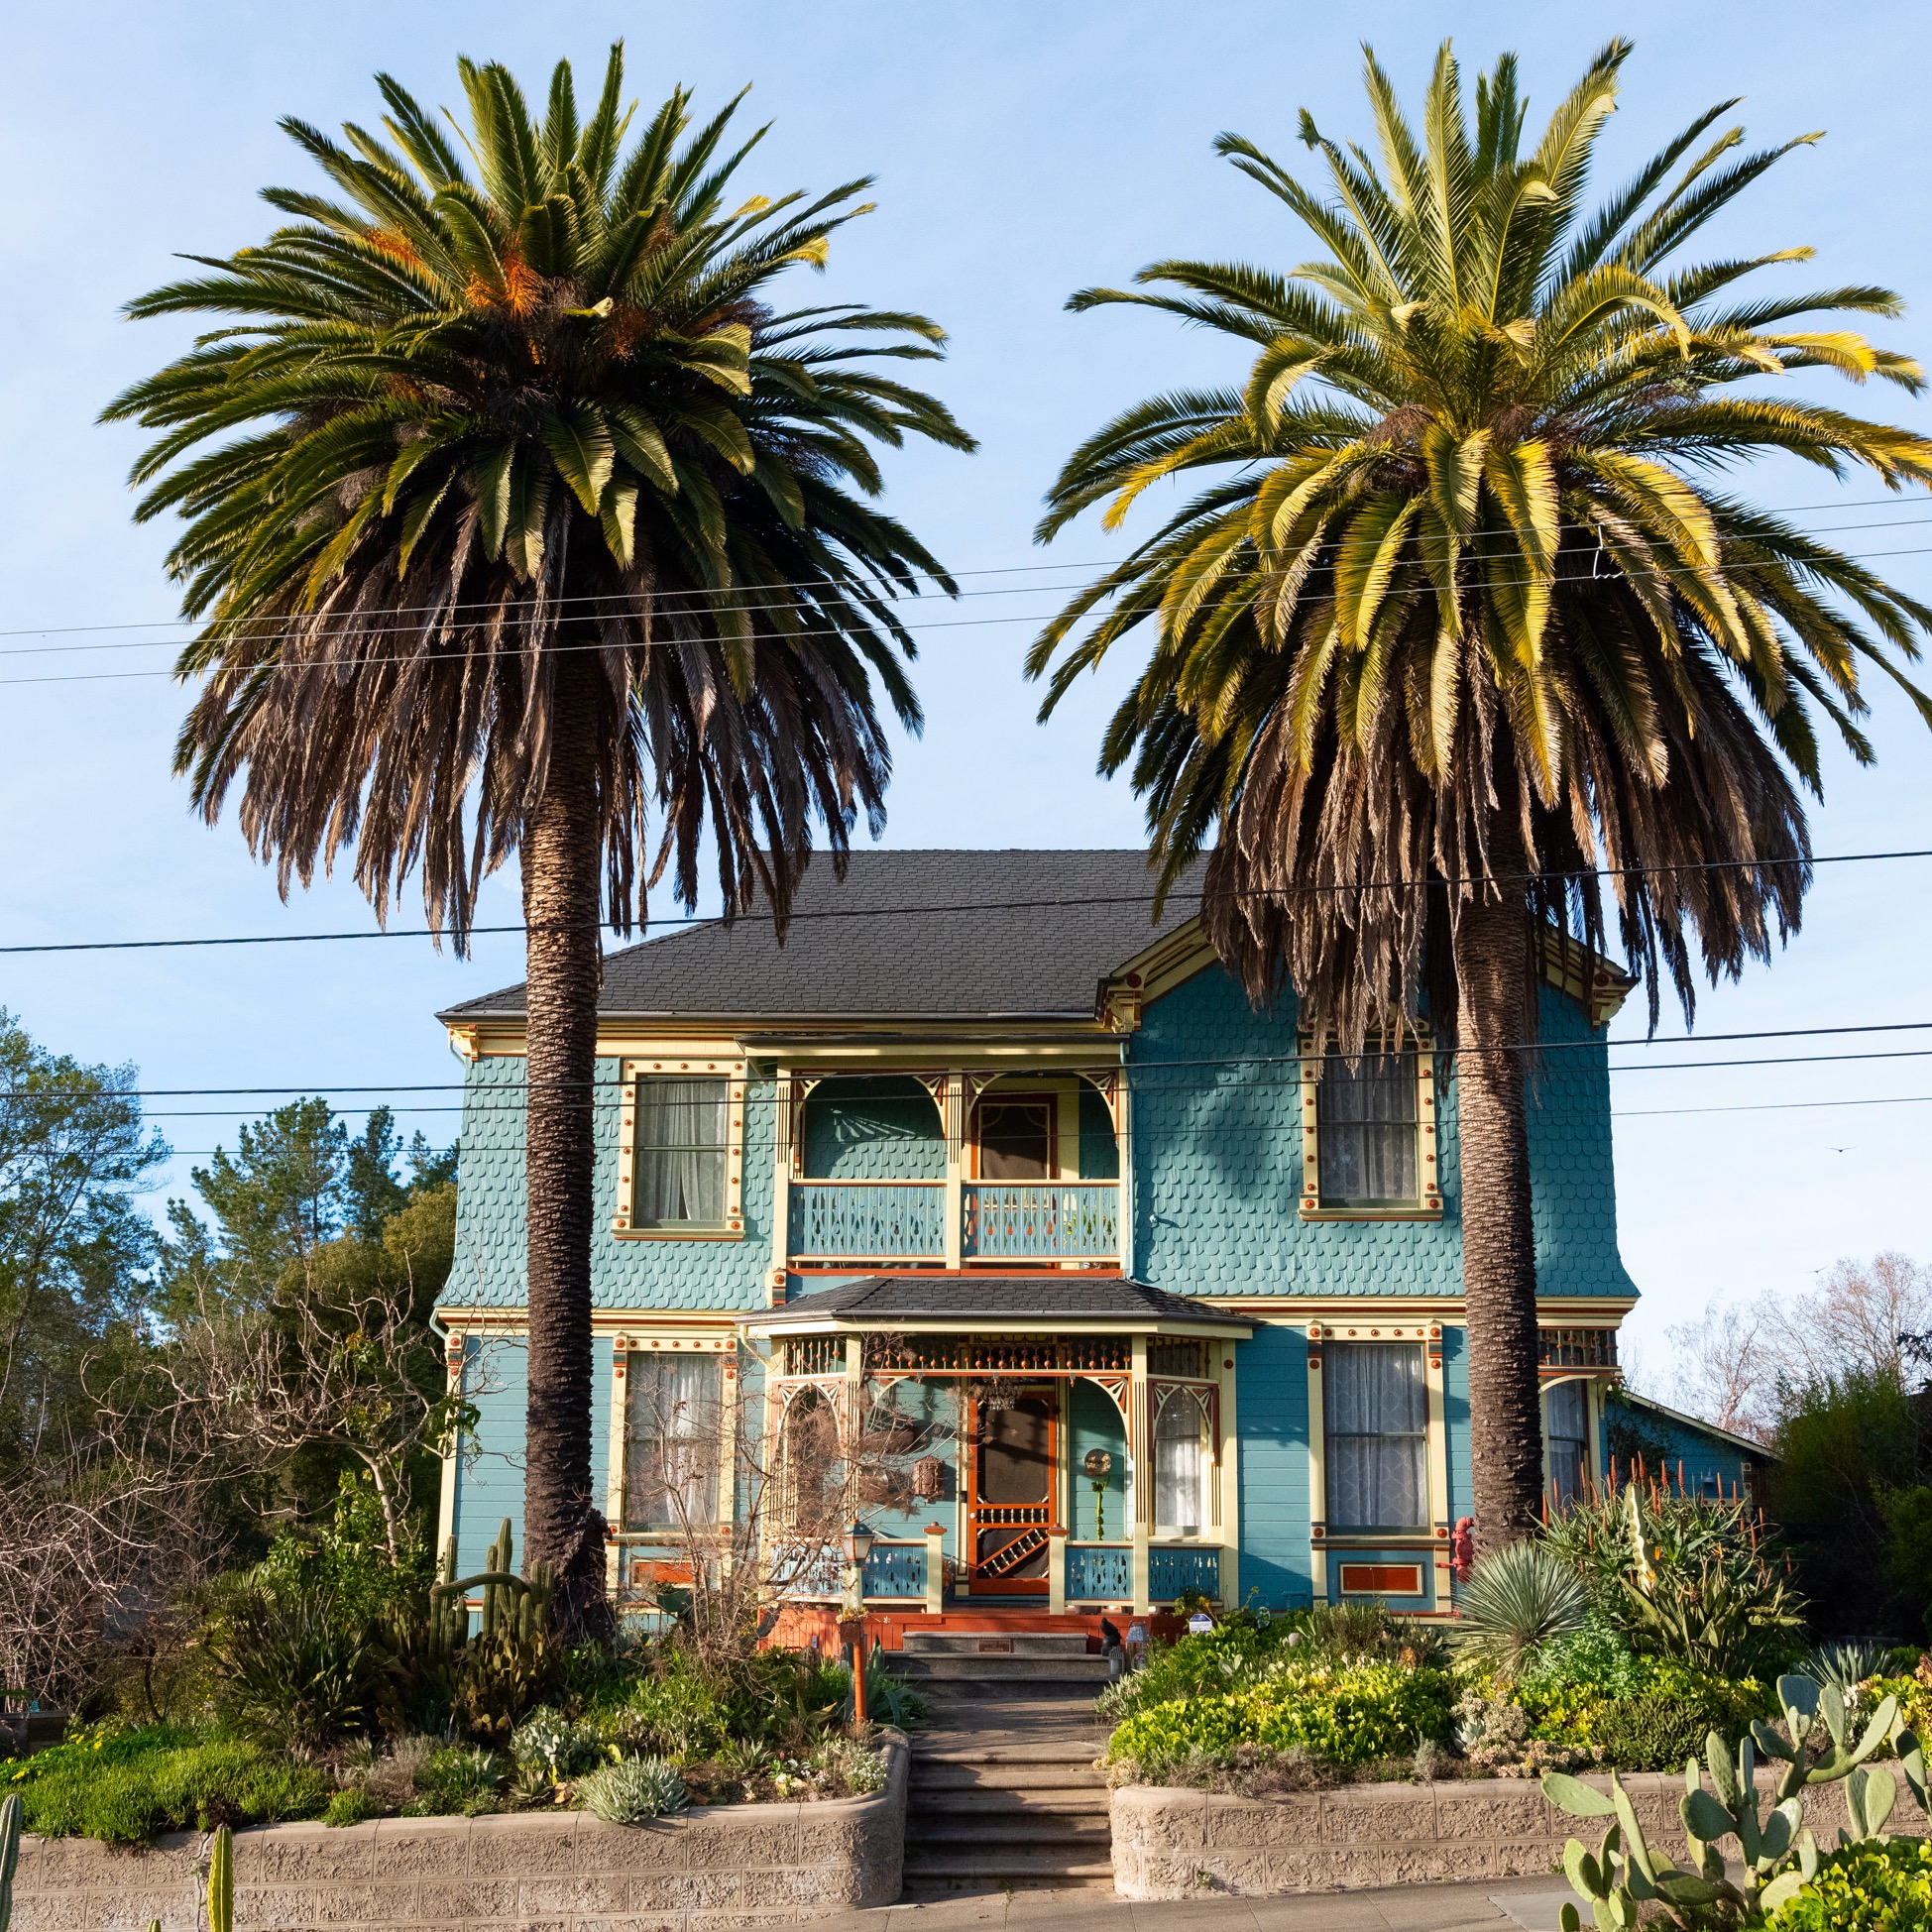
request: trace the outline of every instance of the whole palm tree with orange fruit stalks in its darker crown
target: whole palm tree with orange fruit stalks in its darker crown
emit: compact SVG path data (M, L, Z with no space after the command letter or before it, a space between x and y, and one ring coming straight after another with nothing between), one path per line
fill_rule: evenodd
M456 139L379 77L386 139L282 126L338 199L269 189L288 224L129 305L214 323L106 410L158 431L143 520L201 692L176 748L213 823L286 895L354 848L384 916L412 867L464 947L481 877L522 860L527 925L529 1435L526 1549L566 1621L603 1609L591 1503L591 1101L601 918L645 887L781 929L815 827L877 835L875 688L920 711L895 599L951 591L867 502L875 446L972 440L877 357L933 357L918 315L777 311L866 182L726 205L736 102L668 100L628 141L622 46L580 122L568 64L541 124L462 64ZM655 813L655 833L653 833ZM655 837L655 852L649 842ZM639 869L643 856L643 869Z

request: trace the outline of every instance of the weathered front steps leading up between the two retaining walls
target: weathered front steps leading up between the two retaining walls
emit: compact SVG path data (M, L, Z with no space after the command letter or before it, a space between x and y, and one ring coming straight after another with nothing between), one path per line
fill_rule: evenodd
M1076 1633L908 1631L893 1667L929 1702L912 1739L906 1897L1113 1891L1107 1727L1092 1700L1107 1660Z

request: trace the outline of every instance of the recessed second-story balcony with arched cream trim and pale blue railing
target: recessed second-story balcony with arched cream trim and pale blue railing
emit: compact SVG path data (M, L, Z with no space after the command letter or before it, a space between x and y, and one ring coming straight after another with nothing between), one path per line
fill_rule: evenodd
M1119 1136L1088 1080L825 1078L798 1111L792 1267L1121 1265ZM935 1092L937 1088L937 1092Z

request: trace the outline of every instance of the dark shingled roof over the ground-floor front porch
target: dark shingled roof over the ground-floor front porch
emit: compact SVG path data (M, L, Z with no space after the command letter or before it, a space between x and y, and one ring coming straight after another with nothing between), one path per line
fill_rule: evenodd
M1010 1329L1051 1321L1055 1327L1095 1325L1130 1329L1196 1327L1240 1335L1256 1327L1250 1316L1209 1308L1186 1294L1169 1294L1124 1275L867 1275L837 1289L800 1294L782 1308L744 1318L765 1333L833 1327L997 1323Z

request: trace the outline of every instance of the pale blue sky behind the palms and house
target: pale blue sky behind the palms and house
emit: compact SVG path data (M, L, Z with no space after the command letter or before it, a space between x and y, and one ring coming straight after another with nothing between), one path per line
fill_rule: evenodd
M1107 413L1157 386L1235 375L1223 350L1157 317L1070 317L1061 303L1072 288L1121 282L1165 253L1300 259L1306 249L1279 207L1215 160L1209 143L1235 128L1302 160L1294 110L1304 104L1323 129L1366 137L1362 39L1410 99L1443 35L1468 66L1513 46L1534 114L1604 37L1631 35L1636 56L1604 143L1605 182L1731 95L1747 97L1739 116L1756 139L1828 129L1712 230L1704 253L1810 243L1810 269L1777 272L1903 290L1905 319L1880 332L1891 346L1932 352L1932 158L1920 77L1903 52L1917 44L1920 8L1864 0L1828 33L1814 6L1785 0L1752 8L1748 33L1737 33L1741 15L1729 6L1588 10L1588 29L1578 27L1580 12L1248 0L580 0L568 10L495 0L77 0L23 10L0 71L0 155L14 182L0 305L0 630L10 632L0 651L41 655L0 657L0 680L126 672L168 659L155 641L172 636L160 622L174 611L160 570L166 531L129 524L124 475L135 439L93 419L182 336L168 325L128 325L118 305L164 280L176 251L224 253L261 236L270 214L257 187L307 180L276 116L373 120L371 73L384 68L431 100L454 100L458 52L502 58L535 91L558 54L595 70L622 37L632 85L649 102L676 81L694 85L699 104L753 83L746 112L775 126L748 166L748 187L879 176L879 213L838 242L823 299L923 309L952 332L952 357L933 386L983 450L970 460L906 452L891 464L889 500L960 570L1043 560L1030 543L1041 489ZM1841 400L1915 427L1928 419L1924 404L1895 390ZM1922 541L1932 512L1915 500L1874 504L1870 485L1835 489L1808 471L1772 469L1758 487L1789 506L1835 495L1841 508L1806 508L1804 520L1845 527L1857 551L1905 553L1882 568L1932 593L1926 556L1911 554L1932 549ZM1074 566L1115 554L1115 545L1090 527L1047 554ZM1097 682L1039 728L1036 696L1018 678L1030 622L1049 607L1041 585L1072 574L981 576L972 582L1003 595L929 612L945 624L925 634L918 672L931 723L922 742L900 748L891 844L1136 842L1136 802L1122 784L1094 777L1119 680ZM131 628L41 634L114 624ZM102 641L116 647L93 649ZM1820 852L1932 842L1928 738L1903 703L1874 696L1880 765L1833 767L1816 815ZM160 676L0 684L6 939L369 927L346 881L284 908L232 821L211 831L187 815L170 777L182 705ZM1772 970L1710 993L1698 1032L1932 1018L1922 985L1928 881L1926 864L1826 867L1803 937ZM514 879L491 889L483 920L493 916L516 918ZM518 951L514 939L483 939L464 964L402 937L0 958L0 1005L58 1049L139 1063L151 1088L435 1084L454 1078L456 1063L431 1012L518 978ZM1640 1030L1638 1012L1617 1028ZM1671 1016L1663 1032L1679 1032ZM1911 1045L1913 1036L1872 1036L1799 1051ZM1714 1061L1793 1047L1646 1051L1654 1061ZM1619 1074L1623 1250L1648 1296L1638 1331L1652 1337L1652 1354L1662 1356L1662 1323L1712 1296L1799 1291L1837 1256L1886 1246L1932 1260L1932 1188L1920 1175L1932 1107L1785 1105L1918 1094L1932 1094L1932 1061ZM425 1105L450 1097L419 1095ZM232 1144L236 1109L267 1103L156 1101L184 1150L174 1184L185 1180L187 1150ZM1681 1111L1768 1103L1777 1111ZM446 1138L450 1117L406 1115L404 1124Z

